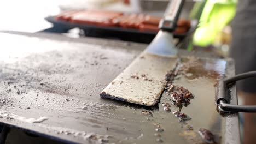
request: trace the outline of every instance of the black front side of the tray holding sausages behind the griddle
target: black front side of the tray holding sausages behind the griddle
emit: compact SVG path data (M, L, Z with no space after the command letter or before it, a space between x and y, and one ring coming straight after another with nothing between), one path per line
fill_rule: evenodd
M101 38L119 38L120 40L133 41L138 43L150 43L157 32L139 31L133 28L123 27L101 27L95 25L87 25L80 23L73 23L69 21L56 20L55 16L46 17L46 21L53 23L54 27L47 29L48 32L56 32L55 29L62 29L63 32L69 29L78 27L84 30L85 35L89 37L101 37ZM183 39L186 34L174 34L174 38Z

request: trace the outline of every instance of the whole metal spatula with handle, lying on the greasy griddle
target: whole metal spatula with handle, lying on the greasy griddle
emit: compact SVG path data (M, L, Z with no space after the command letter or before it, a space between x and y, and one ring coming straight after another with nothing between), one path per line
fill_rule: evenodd
M160 31L139 57L101 92L102 98L153 106L164 91L167 71L176 64L177 48L173 43L176 22L184 0L172 0L159 23Z

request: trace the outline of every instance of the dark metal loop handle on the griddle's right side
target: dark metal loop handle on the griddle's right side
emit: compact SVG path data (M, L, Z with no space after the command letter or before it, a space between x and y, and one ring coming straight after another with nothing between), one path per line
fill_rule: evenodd
M234 85L236 81L246 79L249 77L255 77L256 71L250 71L242 73L229 79L224 79L218 82L216 87L216 105L220 112L256 112L256 105L232 105L230 103L230 94L228 93L228 87Z

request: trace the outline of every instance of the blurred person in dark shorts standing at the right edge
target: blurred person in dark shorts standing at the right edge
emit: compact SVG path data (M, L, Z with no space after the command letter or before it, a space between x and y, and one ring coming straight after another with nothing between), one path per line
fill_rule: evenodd
M256 1L238 1L232 21L231 57L236 62L236 74L256 70ZM237 83L243 104L256 105L256 77ZM256 143L256 113L243 113L243 143Z

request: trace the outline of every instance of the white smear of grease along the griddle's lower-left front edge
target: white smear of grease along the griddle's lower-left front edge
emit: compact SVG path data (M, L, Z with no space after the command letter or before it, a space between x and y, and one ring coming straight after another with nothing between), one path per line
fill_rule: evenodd
M10 119L16 119L22 122L27 122L27 123L41 123L45 120L48 119L48 117L39 117L39 118L26 118L26 117L21 117L18 115L15 115L13 113L1 111L0 116L10 118Z

